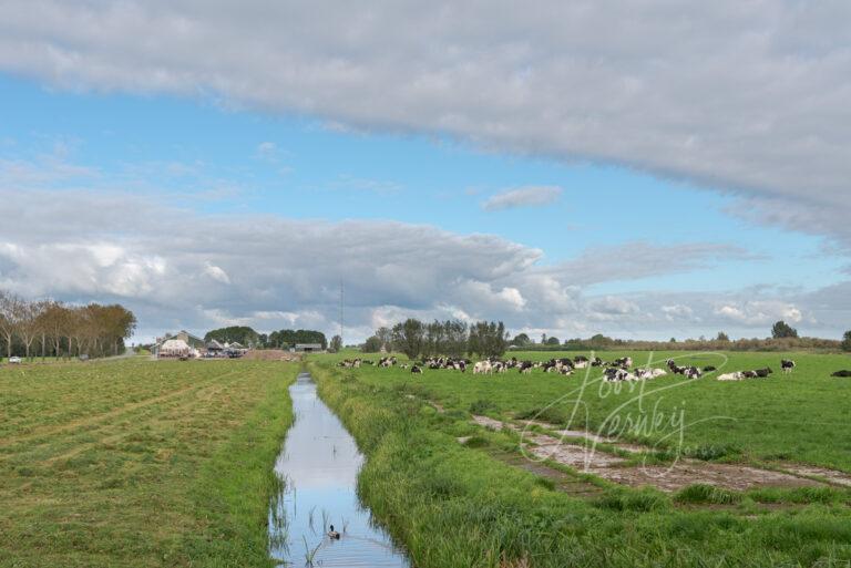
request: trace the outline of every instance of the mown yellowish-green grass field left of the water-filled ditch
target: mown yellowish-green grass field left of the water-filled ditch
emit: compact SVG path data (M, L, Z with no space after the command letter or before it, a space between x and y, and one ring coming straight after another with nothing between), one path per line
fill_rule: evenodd
M0 370L0 566L270 566L271 473L298 368Z

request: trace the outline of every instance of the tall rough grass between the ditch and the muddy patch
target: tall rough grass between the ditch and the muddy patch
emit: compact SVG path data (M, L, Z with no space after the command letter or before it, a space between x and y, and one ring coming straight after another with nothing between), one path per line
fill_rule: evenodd
M420 568L851 560L848 492L731 494L695 486L669 495L582 477L573 483L583 490L567 489L557 472L506 461L516 447L509 434L470 425L470 401L482 396L464 391L470 378L448 375L442 383L438 373L427 373L414 382L410 373L397 380L390 371L379 380L372 374L378 370L342 370L332 362L315 358L309 366L322 399L368 456L360 494ZM507 392L501 396L491 395L495 412L517 404ZM444 404L445 412L427 401ZM462 445L458 436L473 437Z

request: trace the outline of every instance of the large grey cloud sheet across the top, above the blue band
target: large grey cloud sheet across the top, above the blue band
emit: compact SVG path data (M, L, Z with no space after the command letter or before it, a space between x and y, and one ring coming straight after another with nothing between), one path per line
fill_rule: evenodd
M848 2L317 10L10 0L0 69L71 89L307 113L347 132L444 133L488 149L623 164L769 197L763 219L800 210L779 218L851 246Z

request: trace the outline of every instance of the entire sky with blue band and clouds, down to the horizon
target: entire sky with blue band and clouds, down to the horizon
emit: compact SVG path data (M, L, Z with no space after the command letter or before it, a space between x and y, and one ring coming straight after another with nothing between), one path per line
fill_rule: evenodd
M0 288L136 340L851 328L851 4L0 1Z

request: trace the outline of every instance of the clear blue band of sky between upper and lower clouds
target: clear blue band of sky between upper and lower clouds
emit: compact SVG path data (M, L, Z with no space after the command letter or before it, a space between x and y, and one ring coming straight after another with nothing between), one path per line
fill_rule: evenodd
M0 89L6 158L60 153L99 172L84 180L90 186L167 194L203 213L392 219L495 234L540 248L542 264L634 240L729 244L752 255L662 280L624 275L619 290L666 281L677 290L719 290L729 279L812 289L837 282L845 262L822 254L822 238L731 215L732 196L624 167L488 153L449 137L347 131L209 101L58 91L8 74ZM524 186L563 193L543 207L482 209L489 196Z

